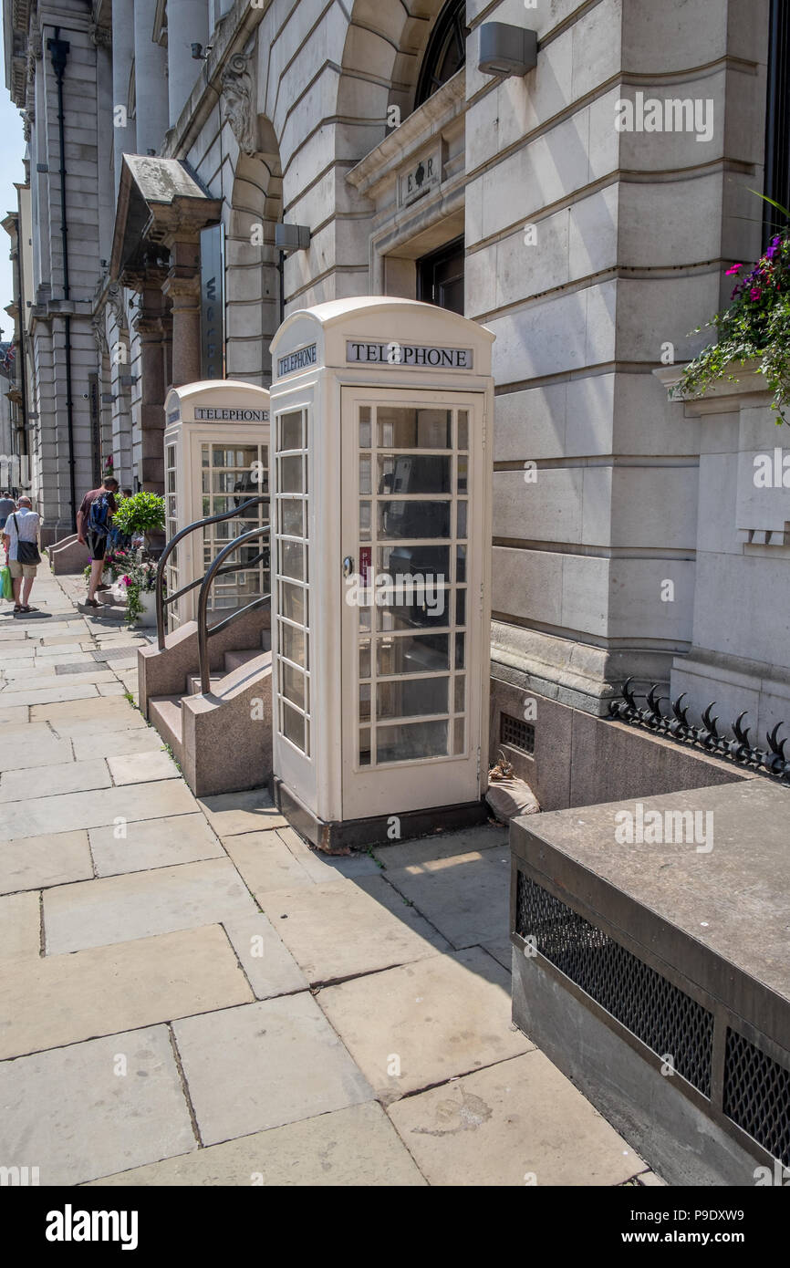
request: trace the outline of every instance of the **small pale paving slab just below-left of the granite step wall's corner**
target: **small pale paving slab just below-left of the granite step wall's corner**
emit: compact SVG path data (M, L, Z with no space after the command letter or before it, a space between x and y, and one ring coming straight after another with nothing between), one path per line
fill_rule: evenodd
M89 837L96 876L224 858L222 846L200 813L146 819L128 823L123 829L91 828Z

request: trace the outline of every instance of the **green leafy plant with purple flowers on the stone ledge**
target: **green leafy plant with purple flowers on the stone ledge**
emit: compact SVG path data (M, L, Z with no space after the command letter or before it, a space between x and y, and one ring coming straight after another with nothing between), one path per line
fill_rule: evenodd
M785 207L758 197L790 219ZM719 380L737 383L738 375L730 373L733 363L757 361L758 373L774 393L772 407L781 425L787 421L785 411L790 406L790 231L775 235L749 273L743 274L743 269L746 265L735 264L727 270L728 276L738 278L730 307L708 323L719 332L718 342L690 361L671 396L699 397Z

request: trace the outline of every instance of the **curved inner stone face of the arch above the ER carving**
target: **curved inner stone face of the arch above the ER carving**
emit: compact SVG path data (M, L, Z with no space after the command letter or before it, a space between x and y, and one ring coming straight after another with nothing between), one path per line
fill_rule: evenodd
M354 0L337 90L340 115L359 115L360 101L380 119L397 105L413 110L422 55L446 0Z

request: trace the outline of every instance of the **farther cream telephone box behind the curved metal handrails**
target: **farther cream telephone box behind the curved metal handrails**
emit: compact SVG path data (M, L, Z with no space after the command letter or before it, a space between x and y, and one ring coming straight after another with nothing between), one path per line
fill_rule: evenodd
M262 497L257 506L245 502ZM269 393L231 379L171 388L165 401L166 533L238 510L184 538L167 559L167 593L205 574L219 550L247 529L269 522ZM256 558L257 557L257 558ZM243 567L247 563L249 567ZM242 547L217 577L209 611L232 611L268 595L269 547ZM194 619L198 588L169 606L170 628Z

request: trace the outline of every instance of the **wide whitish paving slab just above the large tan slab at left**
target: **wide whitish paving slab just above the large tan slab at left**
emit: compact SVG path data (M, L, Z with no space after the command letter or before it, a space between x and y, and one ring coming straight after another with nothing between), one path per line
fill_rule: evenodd
M193 929L256 907L228 858L104 876L44 894L47 955Z

